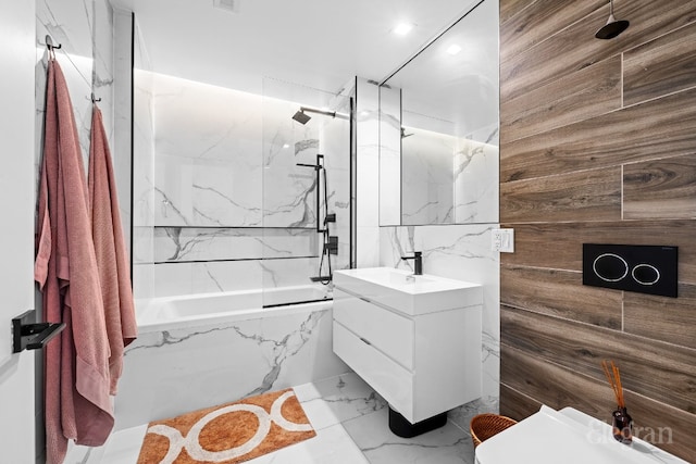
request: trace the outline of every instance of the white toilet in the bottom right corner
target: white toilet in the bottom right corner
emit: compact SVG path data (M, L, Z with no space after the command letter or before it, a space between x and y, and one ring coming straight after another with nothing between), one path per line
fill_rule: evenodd
M546 405L476 447L476 464L688 464L652 444L614 440L611 426L572 407Z

